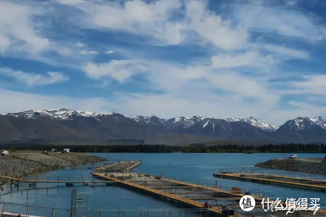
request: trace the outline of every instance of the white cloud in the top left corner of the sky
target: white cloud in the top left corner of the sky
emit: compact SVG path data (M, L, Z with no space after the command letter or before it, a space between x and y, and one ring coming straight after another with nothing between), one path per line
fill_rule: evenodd
M37 53L49 47L49 40L42 37L33 16L38 8L0 2L0 48L1 52Z

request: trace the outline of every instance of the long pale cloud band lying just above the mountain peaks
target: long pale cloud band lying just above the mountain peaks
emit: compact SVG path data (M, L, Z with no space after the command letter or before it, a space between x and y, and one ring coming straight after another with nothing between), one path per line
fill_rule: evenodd
M278 126L297 116L318 116L326 113L325 107L291 102L296 109L274 108L264 101L248 104L241 98L227 95L218 96L206 92L205 95L179 97L174 94L115 94L114 99L75 98L49 96L0 89L0 100L6 102L0 113L19 112L30 109L70 108L82 111L116 111L124 115L157 115L161 118L174 116L203 115L206 117L255 117ZM17 103L19 102L19 103ZM228 109L226 109L228 108ZM273 115L272 115L273 114Z

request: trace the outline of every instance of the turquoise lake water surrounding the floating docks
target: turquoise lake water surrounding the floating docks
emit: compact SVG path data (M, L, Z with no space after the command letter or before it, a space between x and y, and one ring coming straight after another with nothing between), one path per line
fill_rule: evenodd
M255 182L238 181L231 179L218 179L213 177L214 172L220 169L233 170L240 168L247 168L257 170L259 172L266 171L268 173L282 173L291 175L304 175L297 172L286 172L277 170L267 170L255 168L258 162L284 158L283 153L94 153L98 156L108 159L130 159L142 160L143 164L134 169L134 172L142 172L152 175L164 174L167 178L177 178L178 180L187 182L196 182L204 185L212 185L215 180L218 180L219 185L223 188L238 187L242 190L249 190L252 194L262 194L265 197L268 195L279 196L287 198L320 198L321 206L326 206L326 194L317 191L305 191L295 188L286 188L278 185L260 184ZM288 157L289 154L285 154ZM315 158L323 157L324 154L298 154L299 157ZM92 165L94 166L94 165ZM43 175L38 175L38 179L56 180L57 176L70 176L71 178L78 178L82 176L89 176L89 169L80 167L79 169L65 169L58 171L51 171ZM314 178L325 179L326 176L307 174ZM91 180L91 177L89 177ZM96 209L183 209L186 208L180 204L167 203L157 197L149 196L139 191L130 189L123 189L117 185L98 185L97 188L84 187L81 184L74 185L73 188L65 187L64 184L57 186L57 184L38 184L37 189L28 190L26 185L21 185L19 190L14 189L11 193L1 195L0 201L30 204L46 207L57 207L69 209L71 189L76 189L77 193L89 192L86 194L79 194L83 198L83 204L88 201L87 208ZM94 192L95 191L95 192ZM96 207L94 205L96 201ZM80 208L82 209L82 208ZM50 212L47 210L47 212ZM59 211L58 211L59 212ZM68 216L67 210L61 210L61 216ZM108 213L108 212L107 212ZM49 214L50 215L50 214ZM48 215L48 216L49 216ZM47 215L46 215L47 216ZM118 216L104 214L102 216ZM121 215L123 216L123 215ZM127 216L131 216L130 214ZM134 216L140 216L135 214ZM147 215L146 215L147 216ZM150 215L153 216L153 215ZM162 216L159 214L158 216ZM183 216L183 215L182 215ZM187 214L187 216L191 216ZM197 215L195 215L197 216Z

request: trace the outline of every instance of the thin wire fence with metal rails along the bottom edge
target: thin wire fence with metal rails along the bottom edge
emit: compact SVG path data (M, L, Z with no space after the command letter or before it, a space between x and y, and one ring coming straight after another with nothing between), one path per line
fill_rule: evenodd
M316 214L309 212L294 211L286 214L285 211L270 212L264 211L261 208L254 208L249 212L238 212L242 216L275 216L275 217L294 217L294 216L325 216L324 213L316 212ZM216 216L207 209L65 209L53 208L44 206L25 205L17 203L0 202L0 216L21 216L21 217L208 217ZM237 214L233 215L237 216Z

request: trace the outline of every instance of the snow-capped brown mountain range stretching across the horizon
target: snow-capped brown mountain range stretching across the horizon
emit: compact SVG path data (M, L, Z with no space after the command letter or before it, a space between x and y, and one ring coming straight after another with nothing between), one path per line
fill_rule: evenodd
M151 144L191 144L215 140L326 142L325 117L297 117L275 127L249 118L124 116L70 109L29 110L0 115L0 142L99 142L141 139Z

